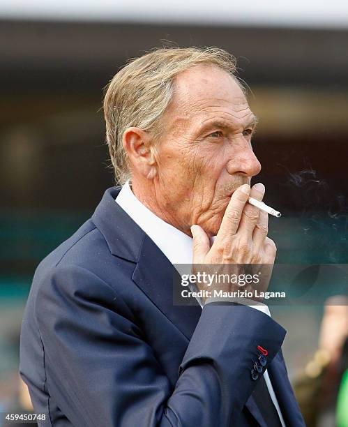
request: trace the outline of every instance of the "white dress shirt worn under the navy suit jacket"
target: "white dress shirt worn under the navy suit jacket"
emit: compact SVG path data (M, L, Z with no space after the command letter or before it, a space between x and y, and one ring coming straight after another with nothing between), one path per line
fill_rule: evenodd
M153 243L160 248L162 253L165 254L172 264L192 264L193 239L173 227L173 225L166 223L142 204L130 189L129 181L127 181L121 188L119 195L116 197L116 203L119 204L123 211L128 213L130 218L132 218L133 221L137 223L137 225L139 225L139 227L150 237ZM200 301L200 299L197 299L197 301L202 307L202 301ZM248 300L246 301L246 304L248 304ZM239 299L238 302L240 303L241 299ZM266 315L271 315L268 306L265 304L252 305L251 307L262 311ZM267 370L264 371L264 380L266 381L269 394L271 395L275 409L278 412L282 426L285 427L285 422L282 418L278 400L275 397Z

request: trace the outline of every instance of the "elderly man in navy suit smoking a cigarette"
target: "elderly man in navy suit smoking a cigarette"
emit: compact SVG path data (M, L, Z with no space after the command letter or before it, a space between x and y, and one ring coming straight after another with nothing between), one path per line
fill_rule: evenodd
M109 83L123 186L40 264L24 314L21 373L42 425L304 425L266 306L173 304L173 264L275 258L267 214L247 203L264 186L250 189L257 120L234 72L223 50L169 48Z

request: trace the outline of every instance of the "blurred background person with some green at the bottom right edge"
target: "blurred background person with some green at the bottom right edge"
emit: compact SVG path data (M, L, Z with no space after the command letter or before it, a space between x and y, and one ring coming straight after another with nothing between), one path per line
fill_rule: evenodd
M294 381L308 427L348 426L348 297L326 300L319 349Z

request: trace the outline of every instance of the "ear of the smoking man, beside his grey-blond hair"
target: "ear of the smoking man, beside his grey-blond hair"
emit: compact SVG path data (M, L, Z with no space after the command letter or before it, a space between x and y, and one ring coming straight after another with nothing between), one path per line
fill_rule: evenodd
M133 173L142 174L147 179L156 177L155 147L149 133L135 127L127 128L123 133L122 143Z

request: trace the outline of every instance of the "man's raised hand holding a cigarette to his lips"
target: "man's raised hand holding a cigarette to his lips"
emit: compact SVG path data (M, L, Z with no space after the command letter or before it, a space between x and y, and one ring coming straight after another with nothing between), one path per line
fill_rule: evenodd
M248 204L249 196L261 201L264 197L263 184L257 183L251 190L248 184L244 184L234 191L212 246L202 227L192 225L194 264L192 273L195 274L197 264L201 264L199 271L204 268L204 271L210 274L213 274L213 271L210 271L209 264L268 264L266 269L262 269L262 265L257 266L258 271L260 268L263 270L262 283L259 283L257 290L265 291L271 278L276 246L267 237L268 213ZM226 274L229 271L229 274L241 274L243 272L241 266L236 266L233 271L232 266L228 269L226 267L221 266L221 271L218 273ZM241 286L236 283L215 283L210 287L205 284L197 284L197 286L199 290L212 291L214 288L223 291L241 290ZM243 290L246 290L246 287Z

